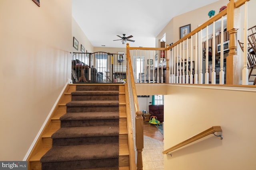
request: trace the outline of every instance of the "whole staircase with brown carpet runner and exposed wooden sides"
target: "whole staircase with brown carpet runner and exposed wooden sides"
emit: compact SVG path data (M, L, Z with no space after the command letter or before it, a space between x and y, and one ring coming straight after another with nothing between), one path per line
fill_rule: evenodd
M28 162L31 170L128 170L124 84L70 84Z

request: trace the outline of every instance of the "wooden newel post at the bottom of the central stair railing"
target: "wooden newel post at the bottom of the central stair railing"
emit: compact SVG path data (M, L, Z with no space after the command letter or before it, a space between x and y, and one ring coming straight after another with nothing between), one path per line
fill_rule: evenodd
M143 139L143 117L142 111L136 111L136 148L137 148L137 170L143 169L142 164L142 150L144 148L144 139Z

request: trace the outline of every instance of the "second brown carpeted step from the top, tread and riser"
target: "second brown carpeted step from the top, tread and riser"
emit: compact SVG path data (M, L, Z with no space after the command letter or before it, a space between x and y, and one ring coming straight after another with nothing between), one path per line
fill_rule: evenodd
M72 101L77 100L118 100L119 91L75 91Z

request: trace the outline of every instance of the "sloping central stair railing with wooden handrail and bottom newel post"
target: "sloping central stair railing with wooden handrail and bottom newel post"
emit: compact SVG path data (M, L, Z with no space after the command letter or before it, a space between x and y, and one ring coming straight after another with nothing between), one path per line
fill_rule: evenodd
M142 111L139 109L136 86L134 81L132 62L130 57L130 49L129 44L126 45L126 56L127 56L127 84L128 84L128 92L130 99L130 109L131 109L131 119L132 119L132 131L133 139L134 139L134 148L137 151L137 170L142 170L142 150L144 148L144 139L143 139L143 117Z

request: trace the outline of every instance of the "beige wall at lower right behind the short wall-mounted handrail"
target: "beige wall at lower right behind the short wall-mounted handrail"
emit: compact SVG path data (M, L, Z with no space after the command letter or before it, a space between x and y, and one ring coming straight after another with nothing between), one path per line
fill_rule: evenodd
M223 140L209 135L173 151L172 157L164 155L164 169L255 169L256 115L248 106L254 106L256 90L243 92L224 88L172 85L167 88L164 96L164 149L214 125L222 127Z

